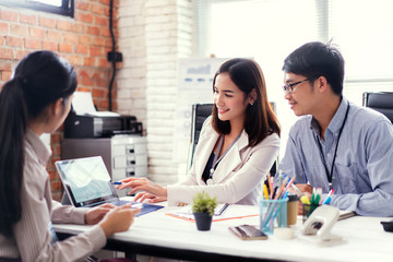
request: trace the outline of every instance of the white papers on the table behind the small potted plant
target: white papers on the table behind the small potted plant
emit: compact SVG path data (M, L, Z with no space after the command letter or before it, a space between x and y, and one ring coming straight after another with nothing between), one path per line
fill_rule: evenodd
M190 222L195 221L192 214L191 205L178 206L177 209L174 209L171 212L165 214L168 216L172 216L176 218L186 219ZM213 222L243 218L243 217L258 216L258 215L259 215L259 210L252 205L218 204L213 215Z

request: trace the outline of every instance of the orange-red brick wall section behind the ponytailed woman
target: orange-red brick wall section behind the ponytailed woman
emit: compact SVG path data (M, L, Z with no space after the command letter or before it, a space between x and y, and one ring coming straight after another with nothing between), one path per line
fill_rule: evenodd
M119 1L115 1L115 17L118 4ZM114 25L117 28L116 19ZM21 58L40 49L55 51L69 60L78 72L79 90L92 92L98 109L108 109L107 90L111 76L111 64L106 58L111 49L109 0L75 0L74 19L0 3L0 86L10 79ZM112 97L116 110L116 86ZM53 162L60 159L61 139L61 130L51 135L53 155L47 166L57 200L62 189Z

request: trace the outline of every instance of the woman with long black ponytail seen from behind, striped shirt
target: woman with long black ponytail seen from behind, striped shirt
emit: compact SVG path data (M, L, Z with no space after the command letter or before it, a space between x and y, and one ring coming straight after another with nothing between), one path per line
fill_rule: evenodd
M0 261L80 261L127 230L136 211L62 206L51 199L43 133L59 128L76 90L73 68L50 51L23 58L0 92ZM90 224L58 241L51 223Z

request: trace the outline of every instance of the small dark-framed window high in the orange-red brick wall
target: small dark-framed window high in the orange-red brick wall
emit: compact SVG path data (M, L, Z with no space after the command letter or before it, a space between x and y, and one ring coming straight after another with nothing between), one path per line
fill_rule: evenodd
M74 0L2 0L1 4L74 16Z

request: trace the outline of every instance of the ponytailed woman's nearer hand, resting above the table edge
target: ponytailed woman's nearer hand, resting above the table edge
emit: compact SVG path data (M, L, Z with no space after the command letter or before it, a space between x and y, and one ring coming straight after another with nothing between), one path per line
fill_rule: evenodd
M98 224L106 237L115 233L126 231L130 228L135 215L140 213L138 209L131 209L131 203L110 210Z

